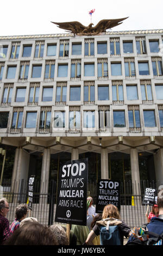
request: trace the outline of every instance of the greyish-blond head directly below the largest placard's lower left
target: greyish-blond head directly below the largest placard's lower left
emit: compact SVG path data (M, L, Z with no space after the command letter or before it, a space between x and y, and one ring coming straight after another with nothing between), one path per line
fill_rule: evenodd
M68 245L68 237L64 227L59 224L53 224L49 227L53 231L59 245Z

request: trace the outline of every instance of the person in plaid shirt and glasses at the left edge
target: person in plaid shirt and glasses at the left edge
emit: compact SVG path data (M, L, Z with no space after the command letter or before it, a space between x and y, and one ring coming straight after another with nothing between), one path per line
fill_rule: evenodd
M7 199L0 199L0 245L3 244L10 236L9 221L6 218L9 211L9 204Z

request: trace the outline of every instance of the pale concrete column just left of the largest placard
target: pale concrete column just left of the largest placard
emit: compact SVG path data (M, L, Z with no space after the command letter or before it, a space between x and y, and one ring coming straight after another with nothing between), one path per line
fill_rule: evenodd
M42 157L40 193L48 193L49 167L51 161L51 150L45 148Z

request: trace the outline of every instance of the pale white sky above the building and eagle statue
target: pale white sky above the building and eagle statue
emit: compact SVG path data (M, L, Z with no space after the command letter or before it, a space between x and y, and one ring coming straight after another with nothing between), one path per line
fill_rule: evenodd
M0 2L0 36L66 33L54 22L94 26L103 19L128 17L112 31L163 29L162 0L5 0Z

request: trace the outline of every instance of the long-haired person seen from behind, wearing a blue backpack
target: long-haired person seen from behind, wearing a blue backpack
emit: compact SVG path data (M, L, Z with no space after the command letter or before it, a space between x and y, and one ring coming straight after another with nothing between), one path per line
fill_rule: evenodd
M117 207L113 204L106 205L103 210L102 214L102 221L96 222L96 225L93 227L90 234L87 236L86 244L87 245L93 245L93 239L95 239L96 236L100 235L100 228L101 225L107 225L108 221L111 221L110 225L117 225L118 231L120 234L120 243L123 245L123 237L126 238L131 235L131 229L127 226L126 223L120 220L120 214L117 209ZM103 241L100 241L101 245L103 245Z

